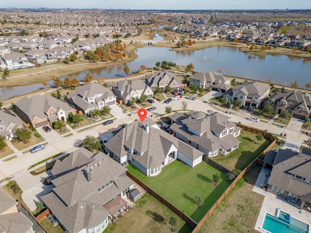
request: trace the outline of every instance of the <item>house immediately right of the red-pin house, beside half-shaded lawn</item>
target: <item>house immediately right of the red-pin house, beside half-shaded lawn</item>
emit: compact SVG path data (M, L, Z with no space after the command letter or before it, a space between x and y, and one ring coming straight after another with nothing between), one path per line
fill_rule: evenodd
M230 121L230 117L220 113L205 114L191 111L190 118L173 114L171 130L175 137L202 151L209 157L221 153L227 155L239 148L241 128Z

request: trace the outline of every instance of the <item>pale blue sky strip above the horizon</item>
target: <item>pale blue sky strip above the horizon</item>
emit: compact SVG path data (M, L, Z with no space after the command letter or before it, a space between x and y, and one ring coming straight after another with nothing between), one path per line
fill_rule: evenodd
M71 9L311 9L311 0L1 0L0 8Z

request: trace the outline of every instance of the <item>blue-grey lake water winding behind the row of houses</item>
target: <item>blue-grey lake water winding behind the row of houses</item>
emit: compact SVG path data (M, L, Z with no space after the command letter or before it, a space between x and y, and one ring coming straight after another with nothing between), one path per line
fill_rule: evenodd
M156 34L155 39L162 40L163 37ZM138 58L127 64L113 67L90 69L95 78L117 78L125 77L123 69L127 65L131 73L140 69L141 65L154 67L156 62L171 61L179 66L194 65L198 72L217 71L222 69L223 75L232 75L246 79L268 81L272 78L273 83L280 85L291 85L297 80L299 87L304 88L311 81L311 59L299 58L287 55L255 56L241 52L232 47L211 47L195 51L171 51L170 48L146 46L135 51ZM73 74L82 81L88 70ZM64 80L67 76L61 77ZM52 81L49 82L53 86ZM13 96L23 95L42 88L41 83L2 87L0 88L1 100Z

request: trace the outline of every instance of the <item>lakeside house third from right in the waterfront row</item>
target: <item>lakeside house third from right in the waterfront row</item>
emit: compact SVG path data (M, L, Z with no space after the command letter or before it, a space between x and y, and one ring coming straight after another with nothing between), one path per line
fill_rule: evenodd
M209 71L206 73L198 72L190 76L189 82L190 85L193 84L199 88L211 89L222 93L225 93L231 89L230 83L230 79L215 71Z

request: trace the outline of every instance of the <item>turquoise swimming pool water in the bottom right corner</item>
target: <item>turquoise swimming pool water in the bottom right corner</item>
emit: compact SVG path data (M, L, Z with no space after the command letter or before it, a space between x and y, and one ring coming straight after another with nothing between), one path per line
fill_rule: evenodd
M304 222L301 222L295 218L291 218L291 223L287 223L270 214L266 214L262 228L271 233L309 232L309 225Z

